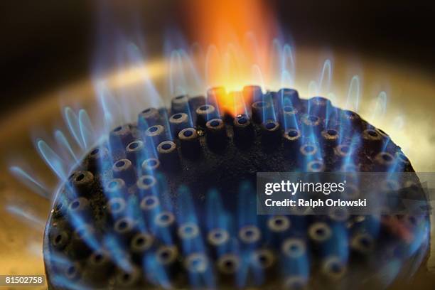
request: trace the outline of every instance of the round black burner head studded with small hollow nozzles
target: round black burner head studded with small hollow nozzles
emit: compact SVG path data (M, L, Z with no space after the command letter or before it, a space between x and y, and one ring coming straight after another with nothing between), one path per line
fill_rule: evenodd
M384 131L295 90L245 87L234 118L220 95L145 109L87 154L46 226L50 287L349 287L409 247L397 227L414 217L255 213L259 171L413 172Z

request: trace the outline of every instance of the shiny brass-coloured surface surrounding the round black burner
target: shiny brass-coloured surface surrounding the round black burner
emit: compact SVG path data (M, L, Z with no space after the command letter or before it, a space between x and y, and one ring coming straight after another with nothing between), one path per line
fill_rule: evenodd
M317 79L322 60L314 50L299 49L296 55L296 86L302 97L307 97L308 81ZM319 61L318 61L319 60ZM346 63L353 58L345 53L336 54L333 68L332 91L337 96L347 95L348 74ZM353 62L355 63L355 62ZM151 65L151 77L161 87L165 78L166 66L163 61L155 60ZM415 68L392 65L383 60L367 58L361 62L363 74L363 97L360 100L359 113L367 121L385 130L402 149L417 172L435 172L435 75L425 75ZM124 84L113 83L114 87L134 85L135 73L131 72L124 79ZM384 117L372 116L372 100L382 89L380 84L388 85L387 113ZM94 100L90 80L77 82L70 87L61 88L70 95L80 96L82 101ZM385 88L384 88L385 90ZM345 107L345 97L335 102ZM31 163L33 173L50 186L55 186L57 179L41 161L33 147L31 133L34 129L45 128L52 131L56 124L61 124L58 93L53 92L36 98L34 103L25 104L16 112L9 112L0 119L0 154L2 169L0 171L0 274L43 274L43 227L50 210L50 201L32 193L11 176L7 170L9 161L18 156ZM168 102L170 97L165 98ZM397 118L403 116L403 119ZM28 222L18 219L6 211L6 206L14 204L23 208L28 215L37 217ZM431 218L432 239L435 238L435 220ZM415 278L418 289L428 289L435 284L435 247L431 245L427 269L421 269ZM396 285L394 289L402 289ZM16 289L16 288L14 288ZM44 287L41 287L44 289Z

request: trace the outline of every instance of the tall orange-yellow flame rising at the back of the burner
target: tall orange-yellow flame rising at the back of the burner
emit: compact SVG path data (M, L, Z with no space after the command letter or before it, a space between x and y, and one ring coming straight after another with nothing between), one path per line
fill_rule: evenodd
M277 31L271 7L261 0L186 1L195 38L210 45L205 55L206 81L228 92L217 96L221 112L245 113L249 94L240 91L245 85L262 85Z

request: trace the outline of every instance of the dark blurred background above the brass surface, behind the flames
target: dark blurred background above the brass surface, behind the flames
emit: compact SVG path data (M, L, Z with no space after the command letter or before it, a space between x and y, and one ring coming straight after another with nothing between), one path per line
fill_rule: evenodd
M183 20L181 1L142 1L136 13L150 53L161 51L168 23ZM296 45L346 48L434 72L435 4L428 1L272 1ZM101 9L90 0L1 1L0 105L90 74ZM261 19L259 19L261 21ZM104 26L101 27L100 29Z

